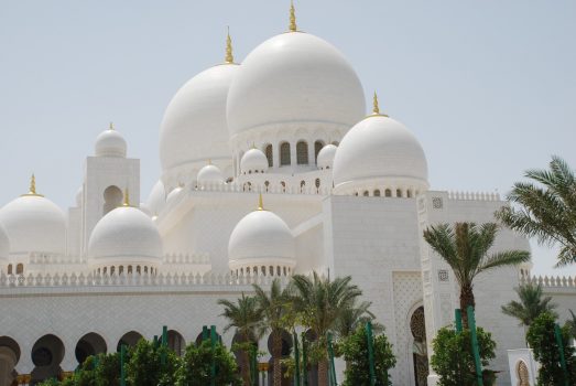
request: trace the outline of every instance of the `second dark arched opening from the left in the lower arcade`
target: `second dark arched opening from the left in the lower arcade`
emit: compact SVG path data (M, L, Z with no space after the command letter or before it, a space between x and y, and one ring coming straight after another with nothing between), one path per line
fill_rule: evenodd
M47 378L58 378L64 360L64 343L56 335L47 334L34 343L32 347L32 379L30 385L36 385Z

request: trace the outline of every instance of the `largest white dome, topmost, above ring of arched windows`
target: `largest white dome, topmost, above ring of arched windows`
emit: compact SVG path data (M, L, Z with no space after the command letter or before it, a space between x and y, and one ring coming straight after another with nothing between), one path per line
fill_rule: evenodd
M362 86L344 55L308 33L276 35L242 62L228 93L230 135L268 125L350 128L365 115Z

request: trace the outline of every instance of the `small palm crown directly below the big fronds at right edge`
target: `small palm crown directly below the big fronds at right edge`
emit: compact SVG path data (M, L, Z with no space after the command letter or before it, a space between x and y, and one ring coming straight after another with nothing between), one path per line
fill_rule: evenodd
M509 317L513 317L520 321L520 325L530 326L532 321L536 319L542 312L553 311L556 304L551 303L551 297L544 297L542 286L534 283L522 285L515 289L520 301L512 300L506 305L502 305L502 312ZM556 315L557 317L557 315Z

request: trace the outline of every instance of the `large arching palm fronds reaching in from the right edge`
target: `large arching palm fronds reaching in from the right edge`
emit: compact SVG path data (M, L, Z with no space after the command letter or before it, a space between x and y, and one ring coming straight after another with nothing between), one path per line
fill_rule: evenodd
M552 157L550 170L528 170L535 183L517 182L496 217L510 228L536 237L540 244L559 244L556 266L576 262L576 176L568 164Z

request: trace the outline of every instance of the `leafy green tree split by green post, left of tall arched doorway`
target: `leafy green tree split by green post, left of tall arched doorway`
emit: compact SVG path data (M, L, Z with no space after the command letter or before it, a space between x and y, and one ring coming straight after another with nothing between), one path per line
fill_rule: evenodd
M358 325L352 334L339 343L339 351L348 364L345 371L343 386L370 386L370 371L368 362L368 340L366 328ZM396 364L392 353L392 344L388 342L385 334L374 335L373 339L376 385L385 384L385 373L389 373ZM390 376L388 377L389 384Z

